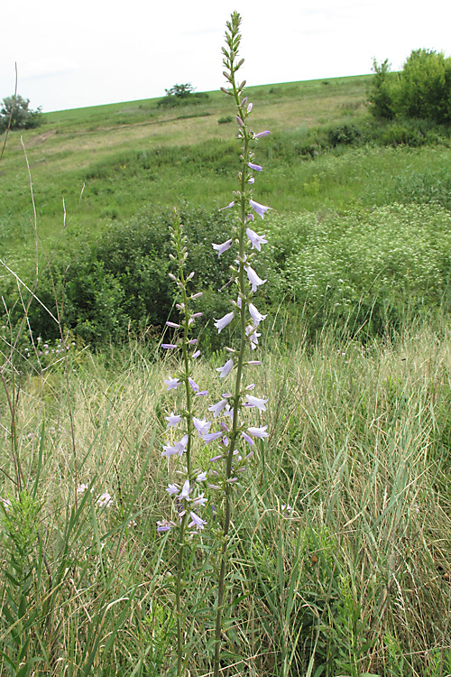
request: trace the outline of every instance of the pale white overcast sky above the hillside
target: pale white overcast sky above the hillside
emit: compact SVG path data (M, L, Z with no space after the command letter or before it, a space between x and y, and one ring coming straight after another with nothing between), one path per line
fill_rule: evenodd
M226 20L242 14L249 85L399 70L421 47L451 52L449 0L22 0L0 13L0 99L44 111L225 85Z

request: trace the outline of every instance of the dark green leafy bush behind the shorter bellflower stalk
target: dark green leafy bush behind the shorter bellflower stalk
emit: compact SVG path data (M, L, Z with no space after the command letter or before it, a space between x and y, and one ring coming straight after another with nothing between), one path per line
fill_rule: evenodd
M227 225L234 218L230 211L207 212L204 209L180 209L189 237L189 266L194 284L206 293L200 310L206 311L204 325L212 325L213 313L228 308L227 295L219 294L228 282L233 257L226 252L218 259L211 243L223 242ZM176 319L174 285L170 282L170 214L160 209L143 209L129 222L106 228L102 236L88 245L75 245L62 252L41 274L37 290L40 302L33 299L29 311L30 326L37 338L59 338L59 329L47 308L67 329L92 348L106 341L122 341L131 333L160 333L166 320ZM23 309L14 305L14 284L5 289L11 320L18 323ZM58 310L57 310L57 302ZM45 308L44 308L45 306ZM213 309L216 306L216 310ZM223 313L224 314L224 313ZM200 322L202 323L202 322ZM215 332L216 333L216 330ZM210 341L212 347L215 341Z

